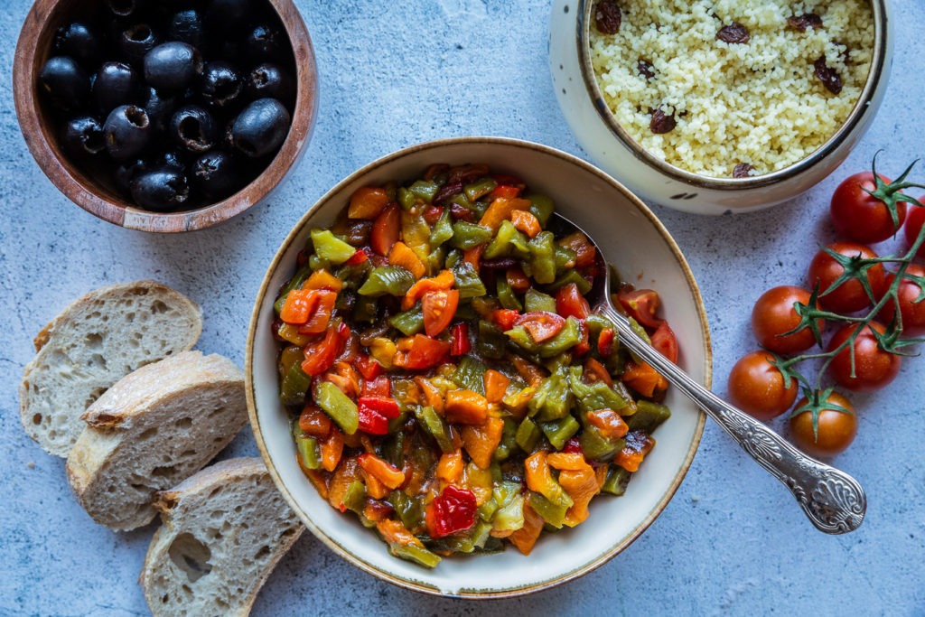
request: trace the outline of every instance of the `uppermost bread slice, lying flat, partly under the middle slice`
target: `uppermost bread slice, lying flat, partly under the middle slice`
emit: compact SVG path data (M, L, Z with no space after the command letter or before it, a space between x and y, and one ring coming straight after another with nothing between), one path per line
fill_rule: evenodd
M199 306L161 283L91 291L35 338L19 386L22 426L43 449L68 456L80 413L131 371L192 349L202 331Z

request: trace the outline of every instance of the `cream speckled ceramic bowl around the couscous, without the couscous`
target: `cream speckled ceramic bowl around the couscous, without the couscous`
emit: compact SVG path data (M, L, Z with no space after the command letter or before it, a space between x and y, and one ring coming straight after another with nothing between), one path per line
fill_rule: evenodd
M562 113L600 167L644 199L676 210L721 215L766 208L820 182L870 127L886 92L893 57L889 0L870 0L875 38L867 82L841 130L807 158L763 176L717 179L674 167L649 154L611 114L595 79L588 43L595 0L553 0L549 68Z

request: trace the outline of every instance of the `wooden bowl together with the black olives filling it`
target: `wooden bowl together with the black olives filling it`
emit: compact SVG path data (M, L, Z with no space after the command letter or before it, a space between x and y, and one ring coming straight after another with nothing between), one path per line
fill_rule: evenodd
M291 0L37 0L13 81L20 128L56 187L157 232L264 200L301 157L317 106Z

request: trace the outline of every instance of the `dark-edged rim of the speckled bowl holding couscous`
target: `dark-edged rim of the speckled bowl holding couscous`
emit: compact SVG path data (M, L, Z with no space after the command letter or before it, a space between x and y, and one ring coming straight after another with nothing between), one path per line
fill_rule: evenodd
M646 163L649 167L654 167L669 178L684 182L688 185L697 186L701 189L715 191L759 189L788 179L793 179L810 167L816 166L823 159L833 154L861 122L876 97L878 84L889 69L889 42L887 41L887 37L889 36L889 11L886 6L887 1L888 0L869 0L874 22L874 45L872 58L870 60L870 70L868 71L867 80L864 82L864 88L857 97L857 101L851 108L848 117L845 118L845 122L842 123L841 127L839 127L828 140L823 142L805 158L787 167L761 176L750 176L747 178L713 178L695 174L681 167L675 167L671 163L651 154L642 144L636 142L635 139L623 129L623 126L617 121L617 118L611 112L610 107L604 99L604 95L598 85L598 80L595 78L594 67L591 63L591 46L589 38L592 22L591 11L597 0L578 0L578 9L575 11L575 37L577 41L578 67L581 71L581 78L585 85L586 94L591 104L594 106L598 117L600 117L607 129L610 130L611 135L623 144L624 148L636 158Z

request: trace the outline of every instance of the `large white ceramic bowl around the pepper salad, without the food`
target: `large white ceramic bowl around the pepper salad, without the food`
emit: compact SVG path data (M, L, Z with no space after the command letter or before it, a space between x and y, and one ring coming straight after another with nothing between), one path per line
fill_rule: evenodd
M621 498L592 501L585 523L541 537L529 557L515 549L448 558L426 570L388 554L386 545L355 516L322 500L296 463L287 414L278 401L277 343L271 334L277 290L295 271L296 255L311 228L327 227L357 188L419 177L432 163L487 163L517 174L551 197L575 223L596 231L604 256L637 287L659 290L676 333L680 364L709 385L707 317L697 283L668 231L632 193L597 168L551 148L499 138L428 142L377 160L312 206L292 229L269 266L257 296L247 341L248 407L257 446L277 487L315 536L364 571L399 586L455 597L520 595L586 574L638 537L671 500L703 432L704 415L671 391L672 417L655 433L658 445Z

